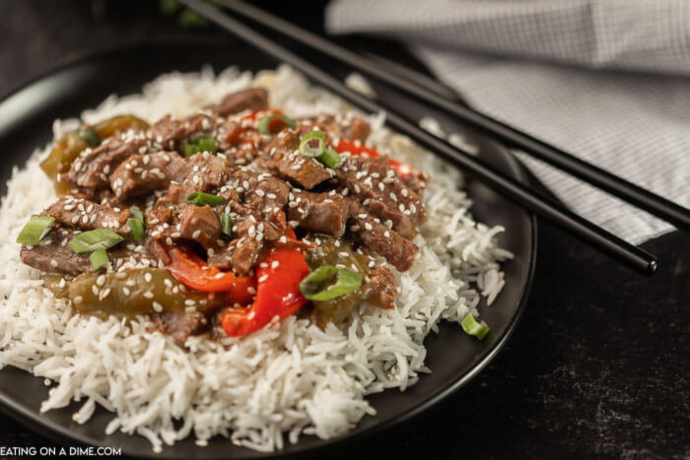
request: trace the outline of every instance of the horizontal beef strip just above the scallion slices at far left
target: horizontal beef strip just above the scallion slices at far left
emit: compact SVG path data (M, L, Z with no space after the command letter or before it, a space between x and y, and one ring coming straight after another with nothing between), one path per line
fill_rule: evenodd
M130 217L129 210L110 208L71 194L59 197L43 211L43 215L54 217L58 223L79 230L110 228L123 237L132 232L127 223Z

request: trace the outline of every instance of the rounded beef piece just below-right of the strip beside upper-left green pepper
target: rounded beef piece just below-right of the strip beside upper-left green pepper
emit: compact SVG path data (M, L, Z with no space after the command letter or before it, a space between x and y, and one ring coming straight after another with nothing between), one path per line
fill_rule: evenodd
M177 152L155 152L132 155L110 174L110 188L115 197L126 200L166 188L184 160Z

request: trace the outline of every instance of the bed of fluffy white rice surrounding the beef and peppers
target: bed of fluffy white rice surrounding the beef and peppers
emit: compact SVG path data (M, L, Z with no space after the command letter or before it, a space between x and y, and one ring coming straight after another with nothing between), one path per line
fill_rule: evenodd
M148 121L166 113L181 117L251 85L270 89L270 105L293 117L350 110L287 67L256 77L205 68L162 75L143 94L111 96L82 118L93 123L125 112ZM365 414L375 415L366 394L404 390L420 372L430 372L424 337L441 319L477 314L480 297L493 301L504 285L499 262L511 254L497 248L495 234L502 228L471 218L471 202L457 188L458 172L389 132L383 114L368 119L370 143L431 176L428 222L415 239L420 252L411 270L397 274L395 310L365 306L346 330L321 330L290 317L244 339L191 337L188 349L148 332L144 318L126 325L72 315L68 303L42 287L39 271L21 263L14 242L28 217L55 199L39 169L46 146L26 167L14 168L0 208L0 228L6 230L0 239L0 366L50 379L53 388L41 411L84 401L74 419L86 423L103 406L115 412L108 433L137 432L155 451L192 433L200 446L221 434L237 445L273 451L301 434L344 434ZM56 136L77 124L56 121ZM184 423L176 428L177 419Z

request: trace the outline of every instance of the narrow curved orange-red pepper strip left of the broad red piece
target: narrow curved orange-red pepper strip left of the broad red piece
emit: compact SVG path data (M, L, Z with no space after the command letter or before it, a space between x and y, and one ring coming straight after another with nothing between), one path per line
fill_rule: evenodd
M236 303L248 303L256 286L251 277L237 277L233 272L221 272L209 266L193 251L179 246L166 246L170 265L166 268L185 286L201 292L228 292L226 297Z

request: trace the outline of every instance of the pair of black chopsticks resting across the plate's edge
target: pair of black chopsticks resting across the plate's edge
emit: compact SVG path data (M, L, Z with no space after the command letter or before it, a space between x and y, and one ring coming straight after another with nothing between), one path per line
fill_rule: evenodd
M180 1L186 6L196 10L203 17L206 17L206 19L213 21L221 26L221 28L235 34L239 39L246 41L279 61L289 63L297 70L306 74L306 76L313 81L335 92L335 94L346 99L354 106L357 106L357 108L364 110L364 112L375 113L385 111L386 123L393 128L393 130L406 134L413 139L413 141L420 144L420 146L431 150L446 161L469 172L475 179L483 181L487 186L503 194L508 199L511 199L511 201L514 201L526 210L534 212L540 217L550 221L584 243L589 244L589 246L638 270L638 272L642 274L650 275L657 269L658 261L653 254L627 243L627 241L620 239L615 236L615 234L607 232L594 223L580 217L578 214L574 214L570 210L567 210L560 204L538 196L538 194L535 194L535 192L523 186L522 183L510 177L506 177L501 172L495 170L493 166L486 163L480 157L474 157L469 154L469 152L456 148L443 139L429 134L417 126L416 120L409 119L405 115L391 110L385 103L372 101L362 94L351 90L341 81L327 72L324 72L321 68L318 68L312 63L302 59L302 57L290 52L277 42L259 34L259 32L256 32L244 23L237 21L237 19L229 17L225 12L201 0ZM605 192L609 192L609 194L615 197L672 223L677 228L690 230L689 210L659 197L649 192L649 190L644 190L643 188L635 186L633 183L620 179L620 177L616 177L610 172L586 163L563 150L535 139L529 134L515 130L471 108L461 106L456 102L455 98L447 97L447 90L438 83L431 86L426 85L425 87L420 85L419 78L411 79L410 75L401 77L398 74L388 72L384 66L380 66L366 58L359 57L357 54L346 50L346 48L337 46L335 43L274 17L242 1L216 0L215 3L225 6L233 10L233 12L242 14L242 16L257 23L261 23L272 30L286 34L290 38L300 41L334 59L343 61L364 74L384 81L416 99L424 101L435 108L443 110L447 114L453 115L457 119L469 123L473 128L476 128L489 137L500 140L508 146L520 148L532 154L534 157L564 172L568 172L574 177L589 182L591 185ZM444 90L446 94L444 94Z

